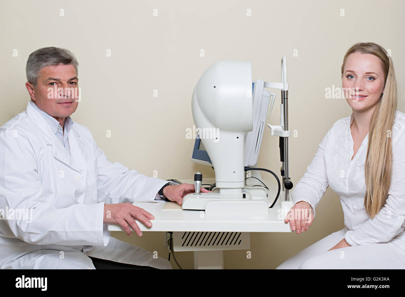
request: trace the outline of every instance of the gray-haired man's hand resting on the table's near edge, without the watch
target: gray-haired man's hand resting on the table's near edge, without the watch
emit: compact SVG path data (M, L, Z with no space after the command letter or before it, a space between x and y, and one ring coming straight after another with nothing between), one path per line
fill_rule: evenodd
M136 220L140 221L147 227L152 227L152 223L149 220L153 220L155 217L151 213L141 209L138 206L134 206L131 203L117 203L117 204L104 204L104 220L103 223L119 224L125 230L128 236L132 235L132 231L129 226L134 229L138 236L142 236L142 231L136 224Z

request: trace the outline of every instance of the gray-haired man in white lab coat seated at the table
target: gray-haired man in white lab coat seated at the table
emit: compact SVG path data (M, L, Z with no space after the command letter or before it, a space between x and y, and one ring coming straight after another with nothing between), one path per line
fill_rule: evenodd
M31 101L0 128L0 267L171 268L110 237L107 224L142 236L135 219L150 227L153 215L132 202L181 204L194 185L173 185L107 159L90 131L70 118L79 103L78 65L64 48L31 53Z

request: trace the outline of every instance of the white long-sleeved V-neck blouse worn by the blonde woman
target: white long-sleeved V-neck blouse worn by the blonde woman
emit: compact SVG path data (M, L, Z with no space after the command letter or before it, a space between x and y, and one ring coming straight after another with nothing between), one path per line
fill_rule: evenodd
M351 160L354 142L350 125L353 120L352 113L335 122L326 133L307 171L293 188L292 201L294 205L299 201L308 202L315 217L315 207L330 186L342 204L348 244L388 242L397 235L405 244L405 114L399 110L395 113L391 133L391 186L386 204L373 219L364 207L364 165L369 134Z

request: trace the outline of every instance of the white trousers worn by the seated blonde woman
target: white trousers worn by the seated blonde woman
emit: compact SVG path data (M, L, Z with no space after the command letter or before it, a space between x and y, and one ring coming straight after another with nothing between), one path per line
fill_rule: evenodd
M296 253L276 269L405 269L403 240L328 249L344 238L347 229L322 238Z

